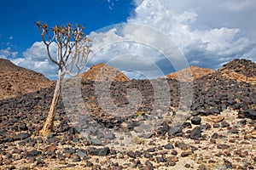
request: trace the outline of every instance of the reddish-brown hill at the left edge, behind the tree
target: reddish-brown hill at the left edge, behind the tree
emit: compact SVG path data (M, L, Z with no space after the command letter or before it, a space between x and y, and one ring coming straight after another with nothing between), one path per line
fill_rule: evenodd
M50 84L43 74L17 66L8 59L0 59L0 99L34 92Z

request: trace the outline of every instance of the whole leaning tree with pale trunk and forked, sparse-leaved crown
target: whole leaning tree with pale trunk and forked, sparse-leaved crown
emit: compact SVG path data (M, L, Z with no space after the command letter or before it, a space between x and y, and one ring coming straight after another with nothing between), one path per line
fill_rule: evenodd
M71 24L67 24L67 26L49 28L47 24L41 24L41 22L36 22L35 24L46 45L49 59L55 65L58 65L59 69L55 94L51 101L44 127L40 131L43 136L47 136L53 129L55 108L60 97L63 77L65 74L72 77L78 76L79 72L87 64L88 55L90 54L90 39L86 37L83 32L84 27L80 25L73 27ZM51 45L57 45L58 50L55 54L50 52ZM52 55L55 55L55 57Z

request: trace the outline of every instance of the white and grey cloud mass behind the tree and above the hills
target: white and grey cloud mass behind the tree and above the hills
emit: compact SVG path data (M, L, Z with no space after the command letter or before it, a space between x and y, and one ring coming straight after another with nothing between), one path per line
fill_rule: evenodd
M135 0L134 3L137 8L127 19L128 25L90 33L93 53L86 69L107 63L131 78L150 78L186 66L177 65L181 54L189 65L212 69L235 58L256 61L256 1ZM142 30L132 26L133 23L149 26L154 31ZM166 48L164 37L157 37L157 31L173 42L172 49ZM172 56L171 63L163 53ZM24 59L15 62L54 77L55 65L49 62L43 42L35 42L23 55Z

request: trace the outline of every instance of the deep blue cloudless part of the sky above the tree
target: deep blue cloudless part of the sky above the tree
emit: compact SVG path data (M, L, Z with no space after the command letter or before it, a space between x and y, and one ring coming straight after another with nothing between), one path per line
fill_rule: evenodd
M35 21L47 22L49 26L68 22L86 27L85 32L96 31L104 26L125 22L132 14L134 5L130 0L2 0L0 5L0 48L10 42L19 56L33 42L40 41Z

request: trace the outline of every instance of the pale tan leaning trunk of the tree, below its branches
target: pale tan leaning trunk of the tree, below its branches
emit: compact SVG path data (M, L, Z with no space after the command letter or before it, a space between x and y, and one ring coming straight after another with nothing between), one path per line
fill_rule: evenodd
M58 100L60 97L60 92L61 92L61 82L62 82L62 78L64 75L62 75L61 69L59 70L58 73L58 79L55 85L55 94L53 96L53 99L51 100L51 105L49 108L49 113L48 116L46 118L46 121L44 122L44 127L40 130L40 133L43 136L48 136L49 133L52 131L53 129L53 125L55 122L55 108L56 105L58 104Z

